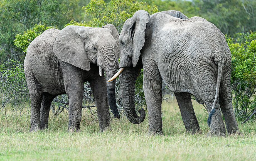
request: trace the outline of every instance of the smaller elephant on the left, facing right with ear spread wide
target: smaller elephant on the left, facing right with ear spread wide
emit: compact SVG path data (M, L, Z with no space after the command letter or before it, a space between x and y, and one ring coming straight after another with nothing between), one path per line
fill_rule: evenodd
M52 100L66 93L70 106L68 130L78 132L85 81L92 88L100 131L110 128L108 105L114 116L120 117L115 102L115 81L106 83L119 65L119 34L112 24L103 27L48 29L28 46L24 71L31 99L29 131L47 128Z

